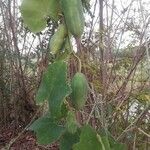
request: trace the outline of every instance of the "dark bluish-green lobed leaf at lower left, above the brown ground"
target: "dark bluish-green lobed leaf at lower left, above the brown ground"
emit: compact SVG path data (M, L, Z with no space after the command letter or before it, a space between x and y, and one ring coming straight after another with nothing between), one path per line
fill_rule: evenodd
M51 144L63 134L64 127L48 117L41 117L29 127L29 130L36 132L39 144Z

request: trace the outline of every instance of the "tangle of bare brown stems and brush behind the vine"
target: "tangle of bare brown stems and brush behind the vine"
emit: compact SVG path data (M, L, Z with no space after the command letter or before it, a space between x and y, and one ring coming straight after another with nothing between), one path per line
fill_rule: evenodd
M31 33L23 25L18 3L0 1L1 129L24 128L37 110L37 116L45 112L42 108L45 110L47 104L35 105L35 93L48 62L53 62L49 37L58 26L49 20L44 31ZM97 130L107 129L111 137L125 143L128 149L150 147L150 12L146 7L149 5L134 0L126 4L122 0L119 6L115 0L104 0L102 5L98 0L91 1L91 9L86 12L82 52L77 52L82 72L90 83L88 102L77 119ZM101 11L99 18L97 12ZM73 58L69 61L68 76L72 77L77 62ZM83 137L87 128L83 129ZM75 147L84 142L83 138ZM66 141L62 139L62 143Z

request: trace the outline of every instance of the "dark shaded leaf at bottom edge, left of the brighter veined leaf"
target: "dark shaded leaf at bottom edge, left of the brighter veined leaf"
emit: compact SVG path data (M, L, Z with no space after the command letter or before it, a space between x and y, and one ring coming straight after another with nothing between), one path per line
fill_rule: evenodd
M60 139L60 150L71 150L72 146L79 142L80 134L76 132L71 134L69 132L65 132Z

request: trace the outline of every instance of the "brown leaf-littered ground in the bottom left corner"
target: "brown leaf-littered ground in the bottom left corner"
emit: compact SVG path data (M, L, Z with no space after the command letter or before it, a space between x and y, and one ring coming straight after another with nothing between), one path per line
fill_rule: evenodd
M0 150L7 150L10 142L24 131L22 127L0 127ZM33 132L24 131L11 145L9 150L59 150L57 144L38 145Z

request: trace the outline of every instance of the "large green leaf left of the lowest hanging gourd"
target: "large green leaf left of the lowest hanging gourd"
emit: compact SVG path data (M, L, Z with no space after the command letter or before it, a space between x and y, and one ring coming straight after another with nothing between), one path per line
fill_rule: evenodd
M51 117L61 116L61 105L67 95L71 93L67 83L67 64L57 61L49 65L43 74L42 82L36 95L37 102L48 100Z

